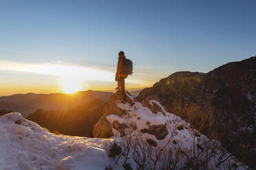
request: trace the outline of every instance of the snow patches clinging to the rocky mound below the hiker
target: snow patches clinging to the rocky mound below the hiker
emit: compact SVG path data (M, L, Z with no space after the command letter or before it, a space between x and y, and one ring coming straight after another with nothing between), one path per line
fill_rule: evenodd
M144 141L147 141L147 139L156 141L156 150L161 149L162 147L164 147L164 145L169 143L169 148L171 148L173 152L177 151L177 149L180 149L182 151L186 151L186 153L190 155L193 154L193 150L191 150L191 148L194 147L195 153L201 153L200 157L208 158L207 156L211 152L211 149L206 148L213 148L213 146L211 145L216 145L216 147L219 147L219 149L216 151L216 153L214 153L215 156L213 156L213 158L209 160L209 169L245 169L244 165L242 165L241 162L238 162L228 152L222 155L223 150L221 151L221 149L223 148L221 147L219 141L210 140L204 134L200 134L200 132L198 132L197 130L192 129L191 125L186 121L183 121L180 117L177 117L175 116L175 114L171 114L164 110L164 107L162 107L162 105L158 101L149 100L149 104L151 104L151 106L153 106L153 103L160 106L162 112L165 115L159 111L156 114L154 114L153 112L151 112L149 108L143 107L140 102L135 102L134 105L131 105L122 104L117 101L117 105L119 108L121 108L122 110L127 110L127 115L119 117L116 114L110 114L106 117L106 119L110 123L112 123L112 125L114 121L118 121L118 123L120 124L124 123L125 125L127 125L127 127L131 127L131 125L135 124L136 130L134 131L134 133L139 134L139 136L141 136ZM152 125L166 125L168 130L167 136L165 136L163 139L159 139L153 134L149 134L148 132L140 133L141 130L149 129L149 127ZM116 128L114 128L113 126L112 132L115 136L120 136L120 132L116 130ZM131 132L126 131L126 133L126 136L129 136L129 133ZM222 156L223 158L221 158ZM224 160L222 165L217 165L217 161L219 159ZM182 164L185 163L185 161L186 158L183 158L183 160L179 162L180 167L182 166ZM132 167L134 167L134 162L131 161L131 165ZM237 168L231 168L231 165L235 165L235 167Z

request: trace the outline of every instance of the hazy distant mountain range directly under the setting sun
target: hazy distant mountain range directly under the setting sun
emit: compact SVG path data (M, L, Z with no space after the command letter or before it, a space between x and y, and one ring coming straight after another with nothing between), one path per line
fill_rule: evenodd
M107 101L113 93L101 91L79 91L75 94L16 94L0 97L0 110L21 112L23 117L39 109L44 110L70 110L75 106L84 104L92 99Z

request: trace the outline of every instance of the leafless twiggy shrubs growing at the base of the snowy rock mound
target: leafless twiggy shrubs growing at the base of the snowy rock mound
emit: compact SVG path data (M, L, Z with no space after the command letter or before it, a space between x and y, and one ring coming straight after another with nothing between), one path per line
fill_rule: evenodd
M143 137L143 134L134 129L134 123L129 123L122 136L122 151L113 157L116 164L123 167L134 164L136 169L236 169L237 160L224 149L217 140L207 138L189 123L173 125L168 121L171 134L164 145L152 146ZM168 124L167 123L167 124ZM173 142L177 130L187 129L193 144L187 148L182 143ZM169 132L170 133L170 132ZM115 144L113 144L115 145ZM131 166L129 166L131 168Z

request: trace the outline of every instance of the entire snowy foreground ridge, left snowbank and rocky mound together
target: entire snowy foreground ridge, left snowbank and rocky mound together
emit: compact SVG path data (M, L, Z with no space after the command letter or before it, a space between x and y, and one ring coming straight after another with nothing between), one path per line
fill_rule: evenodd
M56 135L14 112L0 117L3 169L246 169L216 140L156 100L113 95L94 137ZM99 135L99 136L98 136ZM109 138L111 137L111 138ZM43 162L43 163L42 163Z

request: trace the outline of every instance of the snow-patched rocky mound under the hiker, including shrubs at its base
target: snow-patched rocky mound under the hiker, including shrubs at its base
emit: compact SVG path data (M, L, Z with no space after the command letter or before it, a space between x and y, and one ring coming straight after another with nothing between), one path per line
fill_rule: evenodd
M116 137L111 156L127 169L244 169L220 142L200 134L155 99L110 97L94 137ZM122 149L118 149L118 145Z

